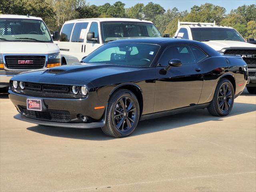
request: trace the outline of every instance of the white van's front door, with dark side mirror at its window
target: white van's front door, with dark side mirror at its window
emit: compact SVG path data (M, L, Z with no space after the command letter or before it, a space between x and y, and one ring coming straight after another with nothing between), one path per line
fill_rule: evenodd
M88 32L94 32L94 38L98 38L98 41L88 41L86 39L84 40L85 41L84 46L86 46L85 54L84 54L85 56L87 56L88 54L90 54L100 46L102 46L98 25L99 25L98 22L91 22L90 24L90 28Z

